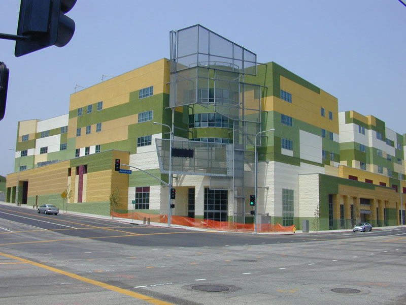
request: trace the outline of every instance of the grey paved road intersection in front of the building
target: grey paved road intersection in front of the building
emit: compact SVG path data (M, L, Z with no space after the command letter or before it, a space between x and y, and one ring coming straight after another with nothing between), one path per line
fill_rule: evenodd
M404 304L405 254L404 228L218 233L0 205L2 305Z

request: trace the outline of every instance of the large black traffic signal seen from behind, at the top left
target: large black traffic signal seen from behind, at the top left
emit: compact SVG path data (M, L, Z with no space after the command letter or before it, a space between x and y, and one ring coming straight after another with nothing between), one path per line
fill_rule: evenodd
M76 0L21 0L15 56L19 57L52 45L63 47L75 33L75 22L65 16Z

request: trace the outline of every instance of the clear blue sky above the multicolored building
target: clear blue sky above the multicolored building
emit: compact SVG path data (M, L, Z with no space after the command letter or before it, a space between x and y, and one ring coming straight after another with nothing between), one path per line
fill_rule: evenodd
M0 33L16 34L20 2L1 0ZM169 57L169 32L194 24L274 61L339 99L339 110L374 115L406 133L406 7L398 0L78 0L65 47L14 57L0 121L0 174L13 172L17 122L69 111L75 85L89 87Z

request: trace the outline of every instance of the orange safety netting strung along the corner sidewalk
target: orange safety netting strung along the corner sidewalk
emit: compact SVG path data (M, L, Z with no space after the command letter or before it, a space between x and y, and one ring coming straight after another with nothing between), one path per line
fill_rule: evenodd
M141 212L133 213L112 213L113 217L128 218L136 220L148 220L155 223L167 223L167 215L154 215ZM220 231L235 231L235 232L253 232L254 224L242 224L228 221L215 221L210 219L195 219L184 216L172 216L171 223L174 225L215 229ZM257 232L293 232L294 225L283 227L279 223L272 224L257 224Z

